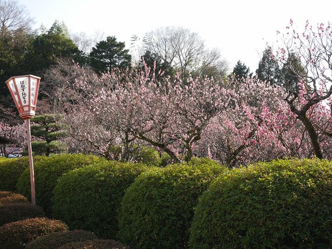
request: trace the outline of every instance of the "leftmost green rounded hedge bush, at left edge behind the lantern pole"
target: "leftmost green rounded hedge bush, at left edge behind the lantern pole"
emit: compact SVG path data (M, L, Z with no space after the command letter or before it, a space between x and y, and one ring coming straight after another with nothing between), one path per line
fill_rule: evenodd
M42 160L44 157L34 156L34 162ZM28 168L29 172L29 158L10 158L0 161L0 190L3 191L16 191L17 180L21 173ZM29 172L30 184L30 172Z

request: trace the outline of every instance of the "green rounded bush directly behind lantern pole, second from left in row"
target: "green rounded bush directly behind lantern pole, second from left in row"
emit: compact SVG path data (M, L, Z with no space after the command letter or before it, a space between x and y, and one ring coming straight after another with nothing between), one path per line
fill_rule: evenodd
M36 162L34 165L36 204L41 206L46 214L51 215L52 191L58 179L69 170L102 162L106 162L106 160L93 155L82 154L59 154L52 157L44 157L43 160ZM18 179L17 191L30 200L31 187L29 168L23 171Z

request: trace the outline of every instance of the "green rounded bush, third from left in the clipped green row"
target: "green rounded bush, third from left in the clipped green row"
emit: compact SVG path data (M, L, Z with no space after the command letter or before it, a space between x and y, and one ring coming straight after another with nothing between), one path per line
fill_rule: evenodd
M109 162L70 171L54 189L54 217L70 229L83 229L115 238L116 219L125 190L149 167L144 164Z

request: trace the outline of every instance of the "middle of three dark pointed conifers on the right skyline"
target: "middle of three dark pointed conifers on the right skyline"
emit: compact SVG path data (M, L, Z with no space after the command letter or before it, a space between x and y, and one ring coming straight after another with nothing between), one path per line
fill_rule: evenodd
M278 62L272 55L272 48L268 47L263 52L258 69L256 70L258 79L270 82L272 85L280 84L280 68Z

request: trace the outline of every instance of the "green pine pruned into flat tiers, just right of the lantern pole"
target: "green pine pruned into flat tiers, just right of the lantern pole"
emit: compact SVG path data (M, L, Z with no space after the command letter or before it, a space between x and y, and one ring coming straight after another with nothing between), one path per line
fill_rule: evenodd
M31 119L31 135L44 141L33 141L32 150L38 155L50 156L51 153L61 153L67 151L64 142L56 141L67 135L66 126L61 123L64 116L61 114L44 114Z

